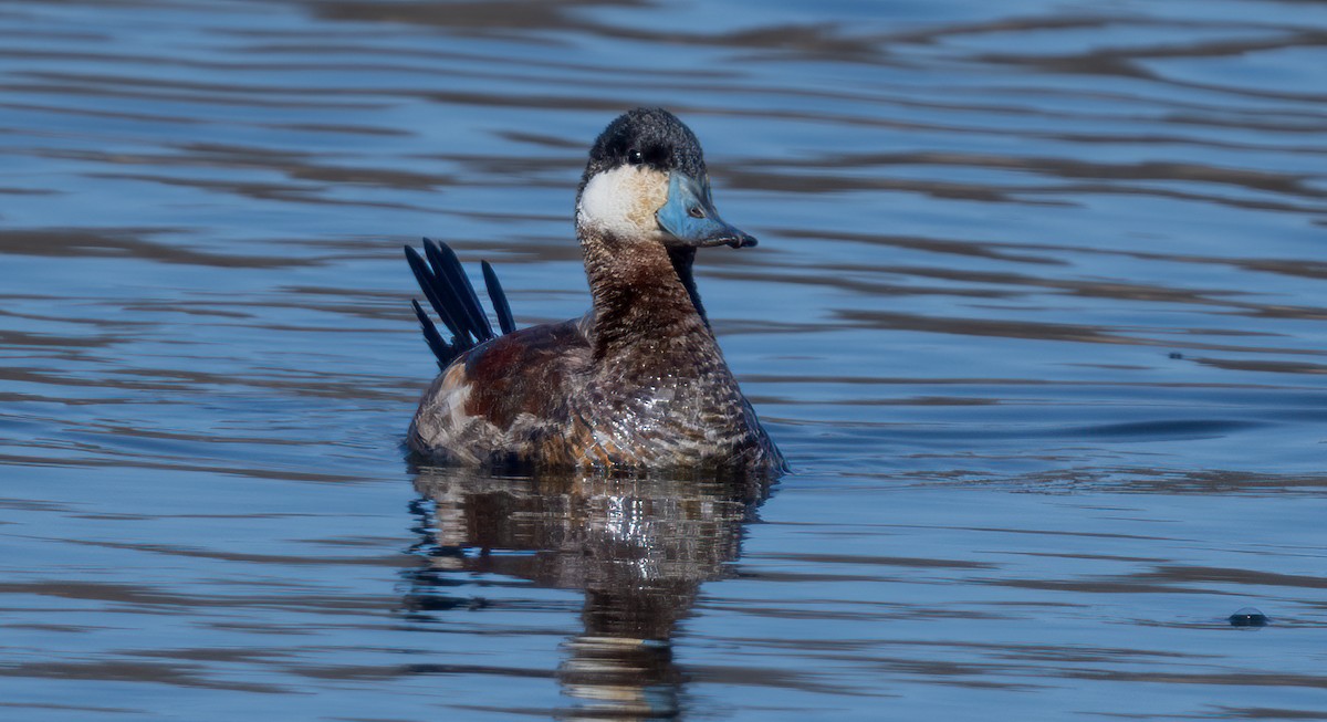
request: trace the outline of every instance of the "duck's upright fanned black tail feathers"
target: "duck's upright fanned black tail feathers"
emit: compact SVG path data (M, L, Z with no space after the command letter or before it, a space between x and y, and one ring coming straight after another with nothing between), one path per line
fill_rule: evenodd
M414 248L406 246L406 260L410 263L410 269L414 271L425 297L429 299L429 305L451 332L451 341L445 341L438 333L438 326L419 307L419 301L410 301L415 317L419 319L423 338L433 349L433 354L438 357L438 368L446 369L462 353L500 336L500 333L494 333L492 326L488 325L488 317L484 316L484 309L479 305L475 288L470 285L470 279L466 277L455 251L446 243L423 239L423 257ZM502 333L511 333L516 330L516 324L511 317L511 307L507 305L507 295L503 293L492 265L488 265L488 261L482 263L484 285L488 288L488 299L498 316L498 328Z

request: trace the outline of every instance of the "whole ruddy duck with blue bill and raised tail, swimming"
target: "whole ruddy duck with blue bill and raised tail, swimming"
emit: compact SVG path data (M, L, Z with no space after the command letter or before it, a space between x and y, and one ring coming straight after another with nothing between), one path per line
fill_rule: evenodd
M411 301L441 373L410 423L410 450L488 469L787 472L697 292L697 250L756 239L715 210L695 134L660 108L613 119L591 147L575 220L592 303L563 323L516 329L483 261L495 332L450 247L426 238L422 255L405 248L450 332Z

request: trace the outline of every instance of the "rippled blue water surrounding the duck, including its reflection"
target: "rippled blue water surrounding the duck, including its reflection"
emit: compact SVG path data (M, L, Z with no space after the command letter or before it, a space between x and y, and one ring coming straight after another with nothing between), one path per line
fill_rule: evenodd
M0 5L4 719L1327 718L1327 5ZM706 146L798 474L411 469L399 247ZM1267 626L1231 626L1253 607Z

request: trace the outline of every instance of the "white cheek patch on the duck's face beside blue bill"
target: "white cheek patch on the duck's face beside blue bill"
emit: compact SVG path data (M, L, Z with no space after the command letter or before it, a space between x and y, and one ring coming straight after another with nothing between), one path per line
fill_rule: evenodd
M653 235L660 230L654 212L666 200L667 175L621 166L589 179L576 207L576 220L580 226L622 239Z

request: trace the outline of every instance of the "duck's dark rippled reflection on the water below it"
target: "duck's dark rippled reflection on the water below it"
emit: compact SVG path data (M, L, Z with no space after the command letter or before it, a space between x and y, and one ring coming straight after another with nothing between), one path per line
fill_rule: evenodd
M437 609L430 587L454 584L449 571L585 592L584 632L565 644L557 669L576 699L572 719L679 714L673 632L701 584L738 559L743 524L768 494L751 479L499 478L451 469L421 470L415 488L434 507L433 523L419 530L417 551L430 564L413 572L415 609ZM418 506L426 515L427 504ZM529 553L491 553L510 551Z

